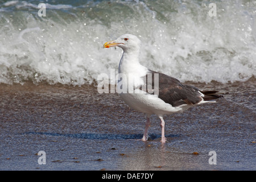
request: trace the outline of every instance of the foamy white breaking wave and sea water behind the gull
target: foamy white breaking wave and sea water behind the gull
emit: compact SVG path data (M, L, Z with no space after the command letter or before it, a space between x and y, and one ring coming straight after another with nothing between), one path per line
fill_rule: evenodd
M256 73L256 1L0 1L0 83L97 84L118 70L130 33L141 64L181 81L247 81ZM215 13L216 16L212 16ZM111 81L111 80L110 80Z

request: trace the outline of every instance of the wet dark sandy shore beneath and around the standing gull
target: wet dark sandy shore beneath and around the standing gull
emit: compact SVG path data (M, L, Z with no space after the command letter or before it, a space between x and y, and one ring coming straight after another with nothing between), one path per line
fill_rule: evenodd
M229 94L164 117L166 144L156 116L150 140L140 140L146 117L118 94L90 85L0 84L0 170L255 170L255 78L187 84Z

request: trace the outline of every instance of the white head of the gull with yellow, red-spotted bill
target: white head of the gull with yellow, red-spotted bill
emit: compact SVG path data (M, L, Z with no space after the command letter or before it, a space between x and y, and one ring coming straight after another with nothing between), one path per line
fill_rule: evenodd
M139 49L141 48L141 40L139 40L135 35L124 34L119 36L117 40L106 42L103 46L103 48L109 47L121 47L124 52L130 52L135 50L139 51Z

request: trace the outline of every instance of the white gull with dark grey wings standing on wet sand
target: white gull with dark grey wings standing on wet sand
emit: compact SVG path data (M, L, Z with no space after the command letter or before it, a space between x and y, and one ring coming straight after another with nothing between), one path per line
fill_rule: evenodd
M200 90L141 65L139 63L141 40L135 35L121 35L103 46L103 48L110 47L123 49L118 68L117 88L122 91L118 92L119 96L132 109L146 114L143 141L148 139L148 127L152 114L160 118L161 142L166 143L163 115L181 113L192 106L214 102L212 100L223 97L216 90Z

